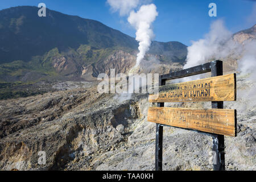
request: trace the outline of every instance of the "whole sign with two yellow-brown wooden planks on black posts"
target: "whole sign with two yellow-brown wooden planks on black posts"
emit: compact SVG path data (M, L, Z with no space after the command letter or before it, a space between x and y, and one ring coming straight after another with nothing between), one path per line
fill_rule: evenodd
M211 72L212 77L166 85L167 80ZM210 133L213 139L213 170L225 170L224 135L236 137L236 110L223 109L223 101L236 101L236 74L223 75L222 61L159 76L159 94L150 95L157 107L148 109L148 121L156 123L155 170L162 171L163 126ZM164 107L164 102L212 101L212 109Z

